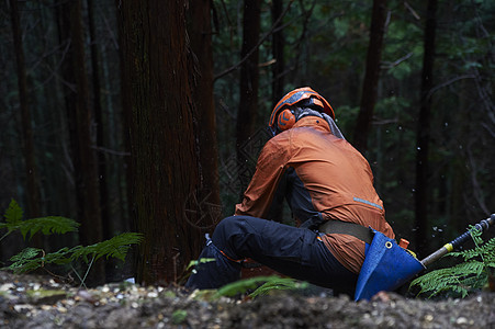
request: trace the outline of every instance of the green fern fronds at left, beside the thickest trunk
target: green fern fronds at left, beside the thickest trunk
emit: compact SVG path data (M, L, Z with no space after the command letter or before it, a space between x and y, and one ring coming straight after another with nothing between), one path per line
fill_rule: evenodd
M26 220L23 220L22 217L22 208L12 200L4 214L5 222L0 223L0 229L7 228L7 232L0 238L0 241L15 230L20 230L23 238L26 239L27 234L30 234L31 238L37 231L44 235L65 234L77 231L79 227L78 223L66 217L48 216ZM91 246L65 247L49 253L45 253L43 249L38 248L25 248L13 256L10 259L12 263L3 269L12 270L16 274L45 268L46 264L70 264L74 269L72 263L82 260L89 264L86 274L81 277L77 271L75 273L81 281L81 285L83 285L88 272L95 260L102 257L106 257L106 259L112 257L124 261L131 247L130 245L137 245L142 239L143 237L139 234L124 232Z

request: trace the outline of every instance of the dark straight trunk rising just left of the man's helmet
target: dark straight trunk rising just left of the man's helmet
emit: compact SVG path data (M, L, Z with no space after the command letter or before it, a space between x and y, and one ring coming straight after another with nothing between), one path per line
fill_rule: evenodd
M239 110L236 124L237 161L243 167L238 170L240 193L243 193L252 174L246 144L255 133L258 112L259 84L259 52L258 39L260 32L260 0L244 1L243 47L240 58L246 58L240 65Z

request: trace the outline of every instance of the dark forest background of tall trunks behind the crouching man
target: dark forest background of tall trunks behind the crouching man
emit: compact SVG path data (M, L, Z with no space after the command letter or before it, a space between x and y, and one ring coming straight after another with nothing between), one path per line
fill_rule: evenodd
M131 275L177 281L310 86L425 257L495 208L494 24L481 0L1 1L0 211L81 223L47 250L143 232Z

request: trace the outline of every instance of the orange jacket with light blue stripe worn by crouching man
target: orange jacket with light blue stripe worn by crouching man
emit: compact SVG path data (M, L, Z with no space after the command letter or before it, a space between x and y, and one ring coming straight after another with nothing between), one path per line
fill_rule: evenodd
M385 222L368 161L345 139L335 137L319 117L303 117L265 145L235 214L275 219L283 201L280 195L301 223L314 216L338 219L395 237ZM340 263L359 273L363 241L344 234L327 234L323 241Z

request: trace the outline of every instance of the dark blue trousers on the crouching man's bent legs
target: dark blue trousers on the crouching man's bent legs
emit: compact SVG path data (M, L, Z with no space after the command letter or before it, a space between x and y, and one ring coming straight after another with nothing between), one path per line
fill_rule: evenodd
M318 234L277 222L232 216L215 228L200 262L185 284L217 288L240 276L241 261L251 258L284 275L353 296L358 275L335 259Z

